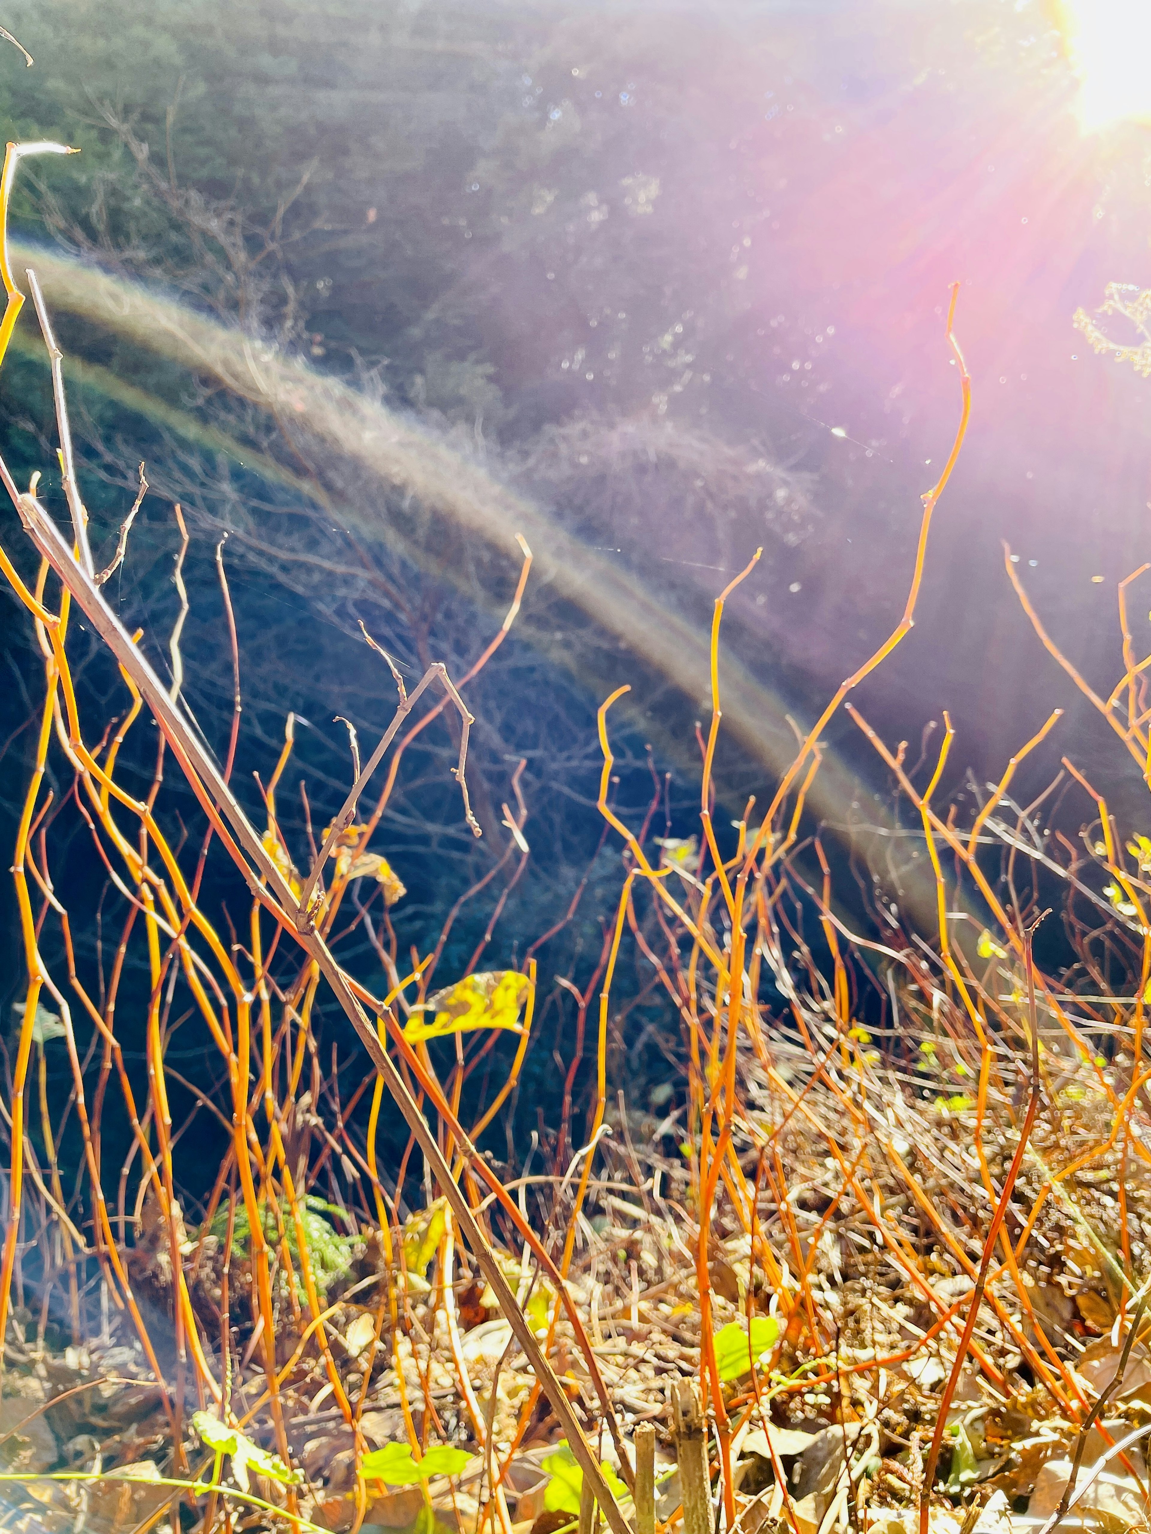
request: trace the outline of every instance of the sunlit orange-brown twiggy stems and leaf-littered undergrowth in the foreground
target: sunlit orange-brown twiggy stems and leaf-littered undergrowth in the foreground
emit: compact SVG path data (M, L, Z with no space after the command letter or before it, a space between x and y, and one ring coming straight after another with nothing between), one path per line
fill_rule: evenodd
M21 153L57 147L9 146L0 222ZM2 360L23 299L6 244L0 256ZM72 528L66 542L35 483L21 492L0 465L40 555L29 581L20 560L0 554L0 566L35 624L46 680L14 856L28 988L2 1104L5 1526L556 1534L579 1523L591 1534L599 1517L615 1534L990 1534L1017 1519L1051 1529L1060 1516L1142 1526L1151 841L1120 831L1070 759L1062 776L1091 815L1079 844L1045 821L1048 795L1014 804L1016 767L1056 715L964 816L935 804L950 724L919 790L905 746L890 749L852 710L918 818L938 890L932 934L878 885L855 930L804 816L827 721L912 626L970 407L955 295L947 341L962 416L924 497L904 618L829 703L766 811L749 804L721 850L712 767L731 586L712 629L698 838L671 838L658 782L640 825L617 813L614 698L603 704L599 807L620 850L620 896L591 974L560 982L577 1020L560 1123L511 1174L477 1144L520 1080L534 953L552 933L522 971L493 971L493 919L470 962L442 973L473 890L425 953L402 956L388 913L404 888L378 838L405 747L440 715L459 723L462 811L479 830L463 689L514 621L526 545L494 643L457 683L433 666L410 695L391 669L399 706L362 765L351 735L342 811L310 847L287 845L276 790L290 716L259 785L259 824L230 787L241 690L223 546L236 706L221 767L181 704L180 624L164 687L104 601L130 515L97 574L60 353L32 272L26 281L54 360ZM178 509L176 523L186 548ZM1151 782L1151 658L1128 630L1130 581L1123 670L1102 698L1045 634L1010 552L1007 574L1039 640ZM80 617L120 666L115 718L81 718L68 655ZM381 650L381 676L387 667ZM149 715L153 776L129 788L118 762ZM49 761L64 793L45 787ZM193 788L198 827L169 822L166 772ZM502 881L503 897L529 856L516 778L511 798L506 848L483 879ZM61 816L106 873L98 942L95 913L52 882L48 831ZM204 908L209 861L242 881L246 928L229 917L221 931ZM1031 939L1059 900L1074 962L1045 973ZM371 945L371 974L341 960L353 933ZM609 1092L625 945L643 999L663 1008L678 1072L646 1108ZM143 1097L115 1016L135 954L150 977ZM324 997L371 1062L344 1098L313 1028ZM195 1089L192 1118L215 1118L227 1146L195 1221L184 1189L203 1166L192 1118L175 1123L169 1100L178 1029L218 1060L218 1088ZM514 1057L493 1089L486 1072L508 1037ZM585 1042L586 1124L572 1106ZM64 1101L46 1091L49 1048L69 1060ZM394 1109L410 1140L384 1164L379 1129ZM114 1123L129 1127L121 1164L104 1155ZM83 1154L66 1169L58 1147L77 1126Z

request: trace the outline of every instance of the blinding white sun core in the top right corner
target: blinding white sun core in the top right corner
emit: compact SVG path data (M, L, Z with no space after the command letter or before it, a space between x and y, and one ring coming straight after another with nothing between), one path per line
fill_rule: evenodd
M1149 0L1064 0L1060 26L1079 75L1079 124L1151 123Z

